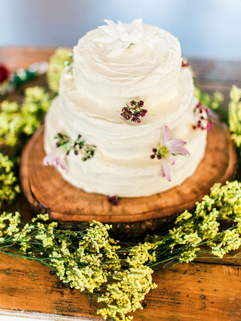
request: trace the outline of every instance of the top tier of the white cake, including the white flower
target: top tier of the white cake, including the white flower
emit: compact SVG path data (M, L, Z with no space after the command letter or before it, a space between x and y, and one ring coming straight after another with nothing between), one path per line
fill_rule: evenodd
M107 25L89 31L74 47L76 74L130 84L180 70L180 43L169 32L142 24L141 19L131 24L105 22Z

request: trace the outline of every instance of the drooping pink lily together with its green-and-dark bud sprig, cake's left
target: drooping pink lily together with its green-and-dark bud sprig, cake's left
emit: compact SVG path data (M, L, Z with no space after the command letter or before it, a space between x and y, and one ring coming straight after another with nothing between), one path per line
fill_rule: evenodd
M77 139L74 141L66 134L58 133L55 139L58 139L56 143L56 148L52 150L43 159L43 164L45 166L55 166L58 165L62 169L67 171L66 156L69 155L70 151L73 150L75 155L78 155L79 151L84 147L85 156L82 157L82 161L91 159L94 156L95 145L85 144L85 141L81 140L81 135L79 134Z

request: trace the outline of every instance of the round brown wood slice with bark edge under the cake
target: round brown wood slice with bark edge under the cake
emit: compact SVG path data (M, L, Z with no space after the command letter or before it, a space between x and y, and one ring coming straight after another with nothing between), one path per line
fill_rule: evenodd
M106 196L85 193L67 183L54 167L43 165L43 130L41 126L27 143L20 170L22 189L35 211L47 211L52 220L58 221L113 223L114 230L121 229L125 235L156 230L184 210L192 210L214 183L232 180L237 169L228 127L217 120L208 132L205 157L192 177L163 193L121 198L115 206Z

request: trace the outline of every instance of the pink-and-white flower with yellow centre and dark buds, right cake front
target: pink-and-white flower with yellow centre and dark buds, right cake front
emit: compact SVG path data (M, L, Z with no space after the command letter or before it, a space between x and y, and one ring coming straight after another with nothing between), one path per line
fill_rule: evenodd
M157 148L153 148L153 154L150 155L151 159L155 157L161 161L162 166L162 177L165 177L169 182L171 181L170 177L170 167L175 163L175 158L177 154L180 155L190 155L189 152L183 147L186 144L182 139L170 139L170 129L168 126L165 126L165 130L163 133L163 140L161 146Z

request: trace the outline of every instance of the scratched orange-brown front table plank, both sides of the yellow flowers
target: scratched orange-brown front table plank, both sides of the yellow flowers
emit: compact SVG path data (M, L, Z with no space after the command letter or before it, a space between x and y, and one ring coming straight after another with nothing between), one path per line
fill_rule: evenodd
M240 268L180 263L155 271L153 281L158 288L146 295L146 308L133 313L133 320L240 321ZM37 262L0 254L0 315L58 321L101 320L83 294L66 288L49 272Z

